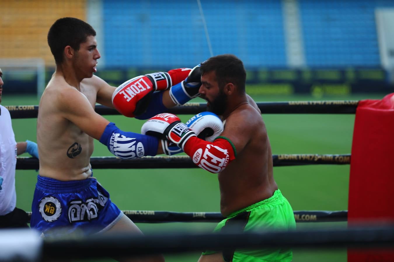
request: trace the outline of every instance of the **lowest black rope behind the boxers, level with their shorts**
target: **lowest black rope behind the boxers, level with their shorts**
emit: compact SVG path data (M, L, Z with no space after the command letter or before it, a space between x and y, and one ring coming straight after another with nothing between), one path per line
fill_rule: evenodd
M173 212L149 210L123 210L136 223L165 222L220 222L225 219L219 212ZM32 212L26 212L29 220ZM348 221L348 211L294 211L296 222L343 222Z

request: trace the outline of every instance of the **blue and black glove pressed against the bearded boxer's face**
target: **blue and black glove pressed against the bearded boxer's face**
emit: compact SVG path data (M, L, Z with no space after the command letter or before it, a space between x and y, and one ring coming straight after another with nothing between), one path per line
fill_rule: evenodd
M171 86L170 97L178 106L200 95L198 92L201 86L200 66L201 64L195 66L184 81Z

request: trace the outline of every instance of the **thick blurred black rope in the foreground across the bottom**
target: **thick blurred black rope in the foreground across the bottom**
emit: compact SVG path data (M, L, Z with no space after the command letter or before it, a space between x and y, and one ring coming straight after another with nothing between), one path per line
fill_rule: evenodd
M155 253L180 253L231 248L267 249L286 247L390 247L394 246L394 226L314 229L295 231L247 231L232 233L162 233L136 235L107 233L86 237L69 234L43 240L44 258L102 258ZM68 250L69 252L64 252Z

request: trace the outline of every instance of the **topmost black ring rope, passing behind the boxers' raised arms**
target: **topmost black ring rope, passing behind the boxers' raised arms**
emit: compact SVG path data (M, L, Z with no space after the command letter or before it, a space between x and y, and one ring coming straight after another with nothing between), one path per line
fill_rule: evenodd
M258 102L262 114L355 114L358 100L338 101L284 101L284 102ZM38 115L37 105L5 106L11 118L34 118ZM119 115L113 108L102 105L95 106L100 115ZM195 115L206 111L206 103L187 103L167 110L177 115Z

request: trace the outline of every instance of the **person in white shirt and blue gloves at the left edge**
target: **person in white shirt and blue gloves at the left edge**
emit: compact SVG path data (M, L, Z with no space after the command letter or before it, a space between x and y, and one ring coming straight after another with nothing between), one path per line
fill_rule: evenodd
M0 68L0 103L3 92L3 72ZM11 117L7 108L0 105L0 228L28 227L28 216L25 211L15 207L17 195L15 192L15 165L17 155L28 152L38 158L37 144L15 141Z

